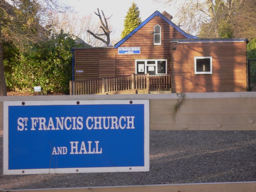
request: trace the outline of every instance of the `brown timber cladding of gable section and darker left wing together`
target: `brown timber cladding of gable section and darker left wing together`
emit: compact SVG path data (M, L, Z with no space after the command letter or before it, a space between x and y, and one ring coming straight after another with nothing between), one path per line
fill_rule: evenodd
M154 45L155 25L161 26L161 45ZM114 48L75 50L75 80L96 79L135 73L135 59L167 59L167 74L171 73L172 47L170 39L185 38L161 17L154 17L120 47L140 47L140 54L118 54ZM76 73L76 70L84 70Z

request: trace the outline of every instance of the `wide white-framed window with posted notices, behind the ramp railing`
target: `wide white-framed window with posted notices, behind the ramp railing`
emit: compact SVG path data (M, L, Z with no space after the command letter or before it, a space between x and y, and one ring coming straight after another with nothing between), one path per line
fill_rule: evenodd
M167 60L135 60L136 74L167 74Z

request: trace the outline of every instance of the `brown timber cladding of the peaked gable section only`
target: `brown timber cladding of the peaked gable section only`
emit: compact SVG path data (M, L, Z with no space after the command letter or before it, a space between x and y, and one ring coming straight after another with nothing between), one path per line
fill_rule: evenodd
M155 25L161 26L161 45L154 45ZM120 47L140 47L140 54L122 55L116 49L116 76L135 73L135 59L167 59L167 74L171 72L171 38L185 38L176 29L166 23L161 17L154 17L140 28Z

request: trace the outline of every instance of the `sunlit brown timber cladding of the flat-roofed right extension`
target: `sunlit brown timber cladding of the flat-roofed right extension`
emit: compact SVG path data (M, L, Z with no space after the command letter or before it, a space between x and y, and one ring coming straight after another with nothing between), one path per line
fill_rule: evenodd
M174 92L246 92L246 42L173 43ZM212 74L195 74L194 57L212 56Z

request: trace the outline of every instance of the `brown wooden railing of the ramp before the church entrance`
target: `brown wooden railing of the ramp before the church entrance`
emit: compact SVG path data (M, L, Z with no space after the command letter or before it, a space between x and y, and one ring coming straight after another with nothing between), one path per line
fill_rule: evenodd
M70 95L131 94L171 91L170 75L132 74L70 81Z

